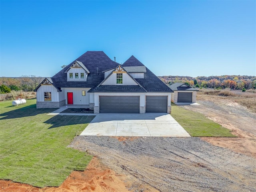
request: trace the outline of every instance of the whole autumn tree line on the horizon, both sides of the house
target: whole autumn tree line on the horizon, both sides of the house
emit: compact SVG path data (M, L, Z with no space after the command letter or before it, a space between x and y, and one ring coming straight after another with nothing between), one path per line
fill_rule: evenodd
M256 76L223 75L223 76L158 76L165 84L171 85L177 82L186 83L197 88L215 88L233 90L256 89ZM34 91L43 78L34 75L21 77L0 77L0 94L9 93L11 90Z

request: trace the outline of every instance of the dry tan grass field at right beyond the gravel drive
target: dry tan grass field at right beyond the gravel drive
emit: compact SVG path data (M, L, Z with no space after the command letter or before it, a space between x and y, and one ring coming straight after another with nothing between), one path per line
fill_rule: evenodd
M232 99L235 102L246 106L252 112L256 112L256 90L246 90L246 92L238 90L214 90L214 89L201 89L198 91L198 99L203 99L204 96L214 96L217 98Z

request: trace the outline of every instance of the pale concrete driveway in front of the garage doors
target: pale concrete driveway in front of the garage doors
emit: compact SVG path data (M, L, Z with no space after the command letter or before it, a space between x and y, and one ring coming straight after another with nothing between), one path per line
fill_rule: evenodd
M188 132L166 113L97 114L80 135L190 137Z

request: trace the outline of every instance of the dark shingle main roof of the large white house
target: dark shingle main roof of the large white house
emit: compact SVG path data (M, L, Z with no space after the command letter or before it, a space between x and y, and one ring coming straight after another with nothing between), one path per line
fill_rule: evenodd
M82 62L90 71L86 82L67 81L65 71L70 68L75 61ZM100 85L104 80L104 72L108 69L114 69L120 65L112 61L103 51L87 51L82 56L71 62L68 66L52 77L54 86L58 88L92 88L89 92L173 92L164 82L162 82L155 74L146 68L134 56L131 56L124 64L124 68L128 67L135 72L144 72L144 78L135 78L140 86L120 86L120 85ZM137 67L140 66L140 67ZM97 69L98 68L98 69ZM97 74L98 71L98 74ZM98 86L98 87L97 87ZM93 90L93 91L92 91ZM145 91L146 90L146 91Z

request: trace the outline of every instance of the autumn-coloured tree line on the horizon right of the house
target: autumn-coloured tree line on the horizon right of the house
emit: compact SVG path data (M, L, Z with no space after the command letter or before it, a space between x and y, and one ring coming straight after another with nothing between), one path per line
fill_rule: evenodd
M232 90L256 89L256 76L223 75L223 76L158 76L165 84L186 83L197 88L214 88Z

